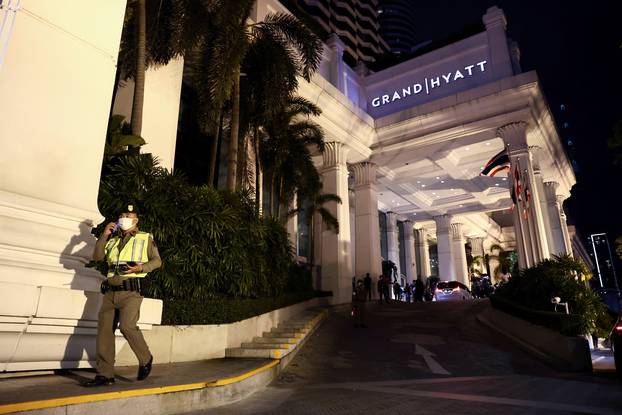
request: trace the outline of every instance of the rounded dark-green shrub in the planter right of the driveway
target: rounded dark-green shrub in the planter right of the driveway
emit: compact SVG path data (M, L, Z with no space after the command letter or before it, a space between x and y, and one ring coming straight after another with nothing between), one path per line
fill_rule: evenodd
M578 315L576 333L604 334L611 328L607 309L600 297L585 283L590 272L585 264L569 255L553 256L534 267L522 270L496 295L537 311L554 311L551 298L568 302L570 313ZM603 336L604 337L604 336Z

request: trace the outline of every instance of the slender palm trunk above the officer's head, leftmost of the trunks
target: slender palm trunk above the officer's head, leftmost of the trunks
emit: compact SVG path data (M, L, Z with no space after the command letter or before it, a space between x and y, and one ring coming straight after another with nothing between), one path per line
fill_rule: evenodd
M134 74L134 100L132 102L132 134L141 135L143 129L143 103L145 101L145 60L147 38L146 0L137 0L136 13L136 73Z

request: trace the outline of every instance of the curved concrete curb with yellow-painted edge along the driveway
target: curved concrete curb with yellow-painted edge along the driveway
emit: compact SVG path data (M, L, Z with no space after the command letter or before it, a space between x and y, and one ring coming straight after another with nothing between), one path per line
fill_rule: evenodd
M0 405L0 414L28 415L109 415L110 413L149 413L158 415L200 411L239 401L267 386L285 369L298 350L328 315L321 310L297 338L285 356L238 376L213 381L104 392L40 401Z

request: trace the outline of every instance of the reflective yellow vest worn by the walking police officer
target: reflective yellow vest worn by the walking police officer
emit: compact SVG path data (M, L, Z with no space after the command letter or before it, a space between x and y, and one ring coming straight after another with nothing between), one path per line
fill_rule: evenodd
M147 256L147 248L149 247L149 238L151 235L147 232L138 231L125 244L121 252L119 252L119 244L121 237L114 236L106 243L106 260L108 261L108 278L114 275L122 275L130 278L143 278L146 272L139 274L123 274L119 266L127 264L130 261L145 263L149 260Z

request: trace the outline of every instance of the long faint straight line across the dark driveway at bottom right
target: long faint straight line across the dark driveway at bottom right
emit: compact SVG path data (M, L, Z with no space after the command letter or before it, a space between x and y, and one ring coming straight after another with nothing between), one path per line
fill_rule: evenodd
M339 386L334 386L334 388L339 388ZM521 407L527 407L527 408L550 409L554 411L580 412L580 413L586 413L586 414L622 415L622 412L620 411L616 411L610 408L596 407L596 406L571 405L571 404L564 404L564 403L557 403L557 402L530 401L526 399L502 398L502 397L496 397L496 396L471 395L471 394L462 394L462 393L431 392L431 391L421 391L421 390L411 390L411 389L383 388L383 387L372 386L366 383L349 383L348 386L344 387L343 389L350 389L350 388L354 388L358 391L389 393L389 394L394 394L394 395L407 395L407 396L416 396L416 397L422 397L422 398L452 399L456 401L501 404L501 405L521 406Z

